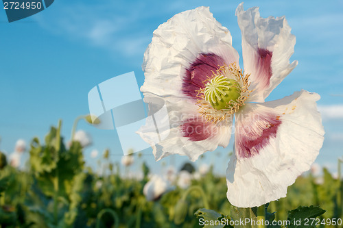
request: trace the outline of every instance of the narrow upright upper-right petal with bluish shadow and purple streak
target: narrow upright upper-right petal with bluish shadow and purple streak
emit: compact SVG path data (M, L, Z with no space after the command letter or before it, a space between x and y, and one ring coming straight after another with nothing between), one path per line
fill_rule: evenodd
M250 73L250 101L263 102L272 90L296 67L289 64L296 38L285 16L261 18L259 8L243 9L236 15L241 28L244 71Z

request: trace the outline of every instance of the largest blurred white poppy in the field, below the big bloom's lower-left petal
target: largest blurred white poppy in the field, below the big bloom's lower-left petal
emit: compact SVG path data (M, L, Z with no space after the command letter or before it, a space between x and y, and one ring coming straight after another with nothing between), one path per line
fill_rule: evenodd
M161 176L152 175L150 180L145 183L143 194L147 198L147 201L155 201L160 198L163 193L171 189L169 181Z

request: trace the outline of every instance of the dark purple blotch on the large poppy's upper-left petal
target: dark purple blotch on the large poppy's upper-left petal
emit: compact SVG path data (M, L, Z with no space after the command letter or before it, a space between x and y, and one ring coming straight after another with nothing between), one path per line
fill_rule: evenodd
M213 75L220 66L224 66L224 59L213 53L200 53L198 58L186 68L182 82L182 92L197 99L198 90L204 88L202 81Z

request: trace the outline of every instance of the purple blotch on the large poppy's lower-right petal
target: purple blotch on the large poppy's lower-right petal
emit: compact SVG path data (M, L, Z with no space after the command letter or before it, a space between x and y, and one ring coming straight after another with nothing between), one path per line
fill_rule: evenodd
M259 114L256 121L243 121L236 129L236 155L238 157L252 157L269 144L271 138L281 125L280 116ZM244 123L244 124L243 124Z

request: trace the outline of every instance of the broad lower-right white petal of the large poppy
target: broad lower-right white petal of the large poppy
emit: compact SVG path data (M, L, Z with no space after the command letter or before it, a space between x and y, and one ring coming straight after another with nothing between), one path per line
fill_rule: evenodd
M237 116L235 155L228 164L226 176L230 203L237 207L255 207L285 197L287 187L309 170L324 140L322 119L316 106L318 99L318 94L302 90L277 101L249 103ZM257 118L265 114L274 115L281 122L276 135L271 134L259 147L262 141L256 136L262 135L261 129L267 127ZM252 136L239 134L242 132L239 126L244 125L250 129L243 132L250 132ZM257 147L257 153L248 157L237 153L242 149L237 148L241 147L239 137L250 138L246 148L252 151Z

